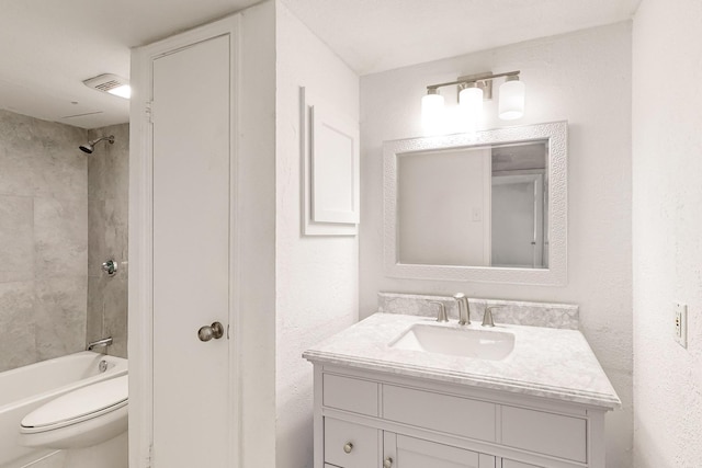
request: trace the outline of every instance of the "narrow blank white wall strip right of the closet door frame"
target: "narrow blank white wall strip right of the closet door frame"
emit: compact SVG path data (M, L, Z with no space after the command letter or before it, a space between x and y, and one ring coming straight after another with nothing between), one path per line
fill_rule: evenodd
M275 466L275 10L241 13L237 195L242 467ZM235 327L237 323L235 323Z

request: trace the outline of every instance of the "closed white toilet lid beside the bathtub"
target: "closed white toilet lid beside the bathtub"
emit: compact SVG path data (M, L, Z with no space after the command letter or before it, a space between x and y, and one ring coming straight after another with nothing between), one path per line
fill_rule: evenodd
M22 427L65 426L95 418L127 404L128 375L81 387L37 408L22 420Z

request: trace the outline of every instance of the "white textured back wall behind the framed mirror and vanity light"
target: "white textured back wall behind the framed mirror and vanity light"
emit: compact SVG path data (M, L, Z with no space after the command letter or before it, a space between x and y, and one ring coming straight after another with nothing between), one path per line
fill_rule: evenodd
M607 419L610 468L632 466L631 53L626 22L361 79L361 316L374 311L378 290L578 304L580 328L624 403ZM522 71L526 115L516 124L569 121L568 285L385 277L383 140L421 134L427 84L487 70ZM495 107L486 105L486 128L505 125Z

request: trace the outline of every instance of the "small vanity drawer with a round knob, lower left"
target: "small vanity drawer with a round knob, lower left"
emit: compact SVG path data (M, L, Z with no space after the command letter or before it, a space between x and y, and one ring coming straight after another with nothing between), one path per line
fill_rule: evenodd
M344 446L350 444L347 454ZM375 467L380 460L378 430L325 418L325 463L342 468Z

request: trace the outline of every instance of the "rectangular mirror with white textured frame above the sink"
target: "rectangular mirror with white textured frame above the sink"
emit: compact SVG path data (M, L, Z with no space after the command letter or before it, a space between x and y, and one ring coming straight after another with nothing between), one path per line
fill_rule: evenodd
M384 144L392 277L567 282L567 123Z

